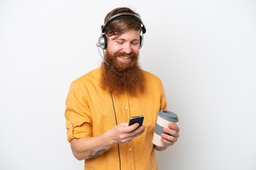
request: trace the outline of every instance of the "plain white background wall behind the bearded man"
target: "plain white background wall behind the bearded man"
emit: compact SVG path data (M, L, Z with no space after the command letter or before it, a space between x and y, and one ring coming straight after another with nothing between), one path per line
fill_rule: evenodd
M140 13L141 66L179 116L159 170L255 170L254 0L0 0L0 169L83 169L66 141L65 98L100 65L100 26L116 7Z

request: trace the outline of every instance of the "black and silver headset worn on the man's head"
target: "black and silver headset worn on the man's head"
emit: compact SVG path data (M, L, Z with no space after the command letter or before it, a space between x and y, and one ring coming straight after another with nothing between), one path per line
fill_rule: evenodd
M118 20L120 18L127 18L127 17L128 18L134 18L142 24L142 27L141 27L142 35L139 35L139 40L140 40L139 41L139 48L141 48L142 45L143 45L143 35L146 33L146 28L145 28L144 23L140 19L140 17L138 15L133 14L133 13L119 13L119 14L116 14L116 15L113 15L112 17L110 17L108 19L108 21L106 21L105 24L101 26L101 37L99 37L99 39L98 39L97 46L100 47L102 50L106 50L106 48L107 48L107 37L104 34L105 31L106 31L105 27L108 24L110 24L111 22L115 21L115 20Z

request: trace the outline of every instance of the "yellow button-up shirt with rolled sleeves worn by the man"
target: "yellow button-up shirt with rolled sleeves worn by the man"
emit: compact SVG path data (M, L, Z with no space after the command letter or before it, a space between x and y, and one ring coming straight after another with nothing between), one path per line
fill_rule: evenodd
M72 82L66 100L67 141L98 136L116 126L109 92L99 87L101 69L97 68ZM144 116L145 132L129 144L119 144L121 170L157 170L152 137L157 113L167 109L162 81L144 71L146 89L137 97L113 96L117 124L132 116ZM85 170L119 170L117 144L98 157L85 160Z

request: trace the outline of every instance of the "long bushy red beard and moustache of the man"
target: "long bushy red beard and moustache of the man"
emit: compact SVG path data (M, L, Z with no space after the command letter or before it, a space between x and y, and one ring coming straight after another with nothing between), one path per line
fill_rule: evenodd
M117 60L117 56L131 57L131 59L128 62L121 62ZM111 94L116 96L121 94L137 96L137 94L143 93L145 77L138 63L139 54L135 54L133 51L130 54L125 52L110 54L106 50L105 60L112 68L105 62L101 65L100 86L102 89L110 90Z

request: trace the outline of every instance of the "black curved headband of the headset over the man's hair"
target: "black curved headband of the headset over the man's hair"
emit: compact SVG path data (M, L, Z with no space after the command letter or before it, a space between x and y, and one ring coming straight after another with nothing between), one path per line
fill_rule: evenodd
M138 15L135 15L134 13L118 13L116 15L113 15L112 17L110 17L103 26L101 26L101 31L102 33L104 33L106 31L105 26L107 26L108 24L110 24L111 22L118 20L120 18L134 18L135 20L138 20L141 24L142 24L142 33L146 33L146 28L144 26L144 23L142 22L142 20L140 19L140 17Z

